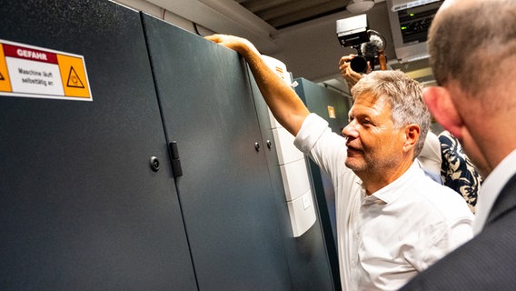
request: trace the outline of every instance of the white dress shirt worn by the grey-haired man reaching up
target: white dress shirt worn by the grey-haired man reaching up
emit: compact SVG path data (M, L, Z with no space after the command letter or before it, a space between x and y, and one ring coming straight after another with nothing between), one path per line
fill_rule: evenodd
M294 140L332 177L342 290L397 290L472 236L470 209L415 161L390 185L366 196L344 165L345 139L308 115Z

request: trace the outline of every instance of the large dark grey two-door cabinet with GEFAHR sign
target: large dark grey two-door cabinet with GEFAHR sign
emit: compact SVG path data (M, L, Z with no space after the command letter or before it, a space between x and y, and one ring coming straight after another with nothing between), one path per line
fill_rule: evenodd
M0 17L1 290L333 288L239 55L109 1Z

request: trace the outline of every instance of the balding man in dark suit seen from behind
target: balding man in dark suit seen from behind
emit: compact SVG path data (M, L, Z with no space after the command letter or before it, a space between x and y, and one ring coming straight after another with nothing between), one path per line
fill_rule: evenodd
M516 290L516 1L445 1L429 53L425 102L486 178L476 236L402 290Z

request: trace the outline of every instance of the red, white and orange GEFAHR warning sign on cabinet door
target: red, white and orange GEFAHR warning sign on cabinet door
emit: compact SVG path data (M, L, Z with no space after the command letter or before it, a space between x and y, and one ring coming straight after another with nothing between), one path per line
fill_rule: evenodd
M92 101L84 57L0 40L0 95Z

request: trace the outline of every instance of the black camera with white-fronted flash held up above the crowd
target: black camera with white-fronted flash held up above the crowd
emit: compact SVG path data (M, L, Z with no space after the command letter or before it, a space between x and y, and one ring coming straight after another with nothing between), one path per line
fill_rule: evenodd
M374 69L377 59L385 49L385 39L376 31L369 29L367 15L356 15L337 20L337 38L343 47L352 47L357 55L351 60L352 70L357 73L367 71L367 62ZM384 62L384 55L383 62ZM382 61L380 65L383 67Z

